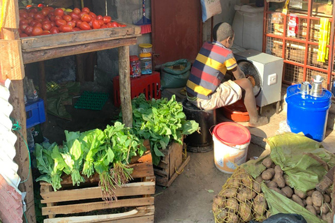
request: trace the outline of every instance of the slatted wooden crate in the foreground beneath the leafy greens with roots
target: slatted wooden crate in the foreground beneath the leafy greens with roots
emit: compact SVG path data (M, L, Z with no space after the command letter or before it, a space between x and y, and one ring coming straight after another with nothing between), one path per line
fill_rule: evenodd
M62 188L54 192L49 183L40 183L41 203L46 203L42 208L42 215L48 218L44 223L51 222L154 222L154 197L155 176L150 151L132 162L133 179L122 187L117 187L117 201L106 202L101 199L101 187L98 186L99 177L95 174L85 178L85 183L80 187L73 187L70 176L61 181ZM91 211L112 213L115 208L133 208L124 213L104 215L88 215ZM122 210L121 210L122 211ZM80 216L77 213L82 213ZM59 217L57 215L66 215Z

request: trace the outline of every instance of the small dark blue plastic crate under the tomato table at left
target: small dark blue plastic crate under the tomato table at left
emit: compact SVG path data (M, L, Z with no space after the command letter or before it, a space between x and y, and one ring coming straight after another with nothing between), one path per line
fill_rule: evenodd
M27 128L45 122L44 102L38 98L37 102L26 105Z

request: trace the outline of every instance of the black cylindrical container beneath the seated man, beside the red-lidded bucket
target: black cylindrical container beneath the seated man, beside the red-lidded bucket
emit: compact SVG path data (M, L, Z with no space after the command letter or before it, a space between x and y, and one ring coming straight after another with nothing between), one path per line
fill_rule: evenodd
M186 135L184 142L187 151L193 153L205 153L213 150L213 138L210 130L216 125L216 109L202 110L195 107L187 98L182 101L183 112L187 120L194 120L199 123L200 133L193 132Z

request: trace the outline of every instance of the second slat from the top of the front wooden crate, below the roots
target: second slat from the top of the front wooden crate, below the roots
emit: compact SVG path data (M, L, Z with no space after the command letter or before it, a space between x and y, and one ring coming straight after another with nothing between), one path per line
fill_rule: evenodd
M134 199L119 199L117 201L100 201L91 203L76 203L69 205L43 207L42 215L57 215L57 214L73 214L73 213L84 213L91 210L104 210L108 208L124 208L124 207L136 207L136 206L147 206L154 204L154 197L141 197Z

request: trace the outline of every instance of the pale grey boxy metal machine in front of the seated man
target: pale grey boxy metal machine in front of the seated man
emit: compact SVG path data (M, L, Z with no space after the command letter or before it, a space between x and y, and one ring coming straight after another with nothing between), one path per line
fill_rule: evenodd
M244 74L255 79L253 91L256 105L262 109L265 105L277 102L276 113L278 114L281 102L283 59L254 49L237 52L234 56Z

